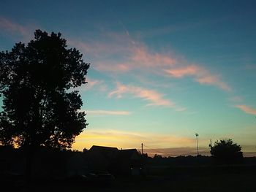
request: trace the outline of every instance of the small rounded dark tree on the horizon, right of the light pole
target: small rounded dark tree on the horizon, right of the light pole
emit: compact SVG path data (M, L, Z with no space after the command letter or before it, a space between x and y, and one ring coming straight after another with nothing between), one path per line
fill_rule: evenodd
M219 163L234 164L241 162L243 153L241 146L233 143L232 139L223 139L211 146L211 155Z

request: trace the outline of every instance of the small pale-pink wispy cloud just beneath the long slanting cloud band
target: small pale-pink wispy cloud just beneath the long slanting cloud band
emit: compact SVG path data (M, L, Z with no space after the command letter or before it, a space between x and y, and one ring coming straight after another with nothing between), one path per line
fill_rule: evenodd
M121 98L124 94L131 94L135 97L144 99L148 101L147 106L164 106L164 107L174 107L175 104L173 101L168 99L164 99L164 95L162 93L158 93L157 91L141 88L132 85L123 85L121 82L116 83L116 90L110 92L108 96L116 96L117 98Z

